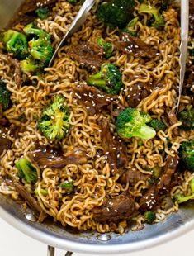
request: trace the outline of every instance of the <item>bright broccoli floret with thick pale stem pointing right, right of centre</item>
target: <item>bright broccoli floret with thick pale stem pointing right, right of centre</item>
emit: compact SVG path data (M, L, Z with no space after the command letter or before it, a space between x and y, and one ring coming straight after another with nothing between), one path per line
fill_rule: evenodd
M154 128L146 125L150 121L149 114L144 114L136 108L125 108L117 117L116 131L122 138L139 137L149 140L156 135Z

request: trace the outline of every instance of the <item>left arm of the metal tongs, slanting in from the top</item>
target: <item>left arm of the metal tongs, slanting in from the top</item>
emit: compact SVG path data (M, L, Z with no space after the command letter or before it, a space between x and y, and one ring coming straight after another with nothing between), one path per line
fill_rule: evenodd
M55 59L55 57L58 53L58 50L61 46L64 45L65 40L67 40L69 38L69 36L72 36L73 33L78 31L78 29L83 25L84 21L86 21L87 16L88 16L88 12L93 7L95 2L96 2L96 0L86 0L83 3L83 6L79 9L78 14L74 18L71 26L69 27L69 30L66 32L63 39L60 41L57 49L54 51L54 55L53 55L52 59L50 59L49 67L53 64L54 59Z

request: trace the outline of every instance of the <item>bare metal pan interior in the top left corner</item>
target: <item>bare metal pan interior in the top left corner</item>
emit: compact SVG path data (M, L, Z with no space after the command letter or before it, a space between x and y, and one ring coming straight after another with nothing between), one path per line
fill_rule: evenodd
M7 26L24 0L0 0L0 29Z

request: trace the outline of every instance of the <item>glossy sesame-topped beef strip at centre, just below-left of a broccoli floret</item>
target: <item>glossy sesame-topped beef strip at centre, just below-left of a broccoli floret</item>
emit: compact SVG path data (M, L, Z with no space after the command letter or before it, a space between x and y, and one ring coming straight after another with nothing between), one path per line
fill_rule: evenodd
M99 111L107 109L111 103L116 104L118 96L109 95L97 88L86 84L78 85L73 88L75 96L78 97L78 103L85 107L92 115Z

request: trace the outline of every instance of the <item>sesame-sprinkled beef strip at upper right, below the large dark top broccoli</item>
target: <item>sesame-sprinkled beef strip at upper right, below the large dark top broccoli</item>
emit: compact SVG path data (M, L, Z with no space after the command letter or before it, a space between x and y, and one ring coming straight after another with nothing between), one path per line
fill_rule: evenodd
M119 41L114 43L115 49L124 52L127 55L135 57L154 58L154 50L135 36L130 36L129 33L121 33Z

